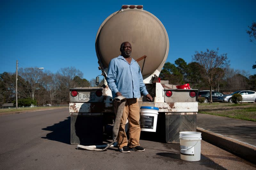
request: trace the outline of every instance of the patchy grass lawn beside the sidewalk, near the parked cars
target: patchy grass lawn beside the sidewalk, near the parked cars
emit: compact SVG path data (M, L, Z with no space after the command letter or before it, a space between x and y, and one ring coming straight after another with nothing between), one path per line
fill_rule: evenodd
M256 121L256 103L198 103L198 113Z

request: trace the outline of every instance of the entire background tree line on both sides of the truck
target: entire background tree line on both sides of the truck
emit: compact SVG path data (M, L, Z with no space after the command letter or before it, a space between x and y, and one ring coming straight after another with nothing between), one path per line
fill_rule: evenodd
M248 76L241 70L234 70L228 65L227 54L218 54L217 50L198 52L193 61L188 63L178 58L174 64L166 62L159 75L169 84L189 83L199 90L215 90L231 93L237 90L256 90L256 74ZM256 68L253 65L252 68ZM69 103L69 89L76 87L95 87L95 79L88 81L75 67L61 68L57 73L43 72L36 68L18 70L18 106L24 99L31 99L36 105L59 105ZM15 104L16 73L0 74L0 104ZM34 99L34 100L33 100Z

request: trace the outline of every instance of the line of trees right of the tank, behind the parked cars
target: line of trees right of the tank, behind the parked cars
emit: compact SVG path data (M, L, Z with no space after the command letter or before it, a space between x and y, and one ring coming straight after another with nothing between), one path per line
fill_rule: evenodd
M252 66L255 68L255 65ZM159 77L169 84L189 83L199 90L215 90L231 93L237 90L256 90L256 74L249 75L244 70L230 68L227 54L218 54L217 50L198 52L188 63L178 58L174 64L166 62Z

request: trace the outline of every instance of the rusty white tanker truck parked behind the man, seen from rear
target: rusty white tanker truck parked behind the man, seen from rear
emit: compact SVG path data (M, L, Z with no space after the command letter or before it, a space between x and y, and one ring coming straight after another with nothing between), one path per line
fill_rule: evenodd
M98 87L69 90L70 143L102 143L103 134L114 123L113 99L106 82L108 64L120 55L123 42L132 45L132 58L141 69L143 82L153 102L141 96L140 106L157 107L156 132L167 143L180 143L180 131L196 131L197 89L177 89L158 77L168 56L169 38L164 25L142 5L123 5L109 15L96 35L95 50L104 79ZM159 127L159 128L158 128ZM148 133L148 132L146 132Z

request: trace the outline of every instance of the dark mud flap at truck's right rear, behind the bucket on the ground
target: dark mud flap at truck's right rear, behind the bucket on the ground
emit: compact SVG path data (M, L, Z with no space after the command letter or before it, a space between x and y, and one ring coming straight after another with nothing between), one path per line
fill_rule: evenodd
M196 131L196 114L165 115L165 140L167 143L180 143L180 132Z

